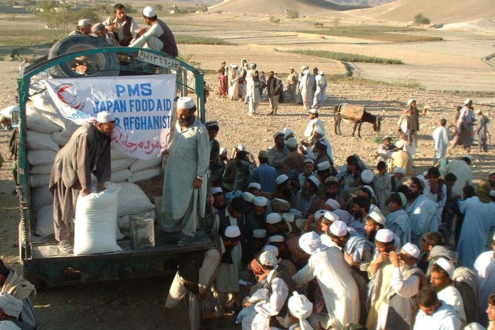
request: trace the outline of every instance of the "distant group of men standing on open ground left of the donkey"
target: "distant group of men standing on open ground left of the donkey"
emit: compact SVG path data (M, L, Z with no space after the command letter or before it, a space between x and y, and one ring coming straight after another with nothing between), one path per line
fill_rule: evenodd
M269 71L268 77L264 71L257 70L256 63L247 63L246 59L240 65L226 66L223 61L219 70L219 97L231 101L240 100L249 104L248 114L257 114L257 106L263 99L270 104L270 115L277 115L279 103L292 102L302 104L302 108L319 109L326 97L328 86L324 71L308 66L302 66L297 73L291 66L287 78L283 81L274 71Z

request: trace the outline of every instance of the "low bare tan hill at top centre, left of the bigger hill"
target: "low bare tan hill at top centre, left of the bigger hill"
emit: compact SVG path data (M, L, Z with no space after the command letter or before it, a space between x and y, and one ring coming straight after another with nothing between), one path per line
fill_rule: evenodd
M325 16L326 11L346 11L356 6L334 4L326 0L226 0L209 8L209 12L285 15L294 9L300 15Z

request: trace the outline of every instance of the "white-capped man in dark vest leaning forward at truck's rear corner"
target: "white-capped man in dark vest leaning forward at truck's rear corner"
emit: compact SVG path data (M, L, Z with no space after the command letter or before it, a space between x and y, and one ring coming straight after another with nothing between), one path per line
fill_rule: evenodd
M202 307L209 302L205 298L212 295L211 288L221 258L226 250L231 251L233 246L238 245L239 238L239 228L230 226L226 229L224 238L219 238L217 247L206 252L193 252L188 258L181 260L176 276L170 285L165 307L176 307L185 297L191 330L201 328L201 311L204 310Z

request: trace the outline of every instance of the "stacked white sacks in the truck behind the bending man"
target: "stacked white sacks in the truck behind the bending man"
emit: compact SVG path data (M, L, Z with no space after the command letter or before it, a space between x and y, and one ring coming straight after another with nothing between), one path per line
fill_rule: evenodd
M51 104L47 92L32 97L26 104L27 161L30 165L31 212L36 219L36 233L54 233L53 197L48 190L51 167L56 153L66 145L78 125L63 118ZM128 231L128 215L149 212L155 216L154 204L135 182L158 176L161 158L135 159L117 149L111 149L111 181L120 183L118 193L118 224Z

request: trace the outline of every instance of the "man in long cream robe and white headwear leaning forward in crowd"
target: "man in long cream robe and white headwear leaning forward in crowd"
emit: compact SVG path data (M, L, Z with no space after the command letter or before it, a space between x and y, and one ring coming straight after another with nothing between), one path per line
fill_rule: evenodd
M312 326L317 324L323 329L341 329L346 324L358 323L360 317L360 300L357 285L338 247L322 244L314 231L299 238L299 245L310 259L307 265L298 271L294 281L304 285L317 280L322 290L326 313L313 313L310 317Z

